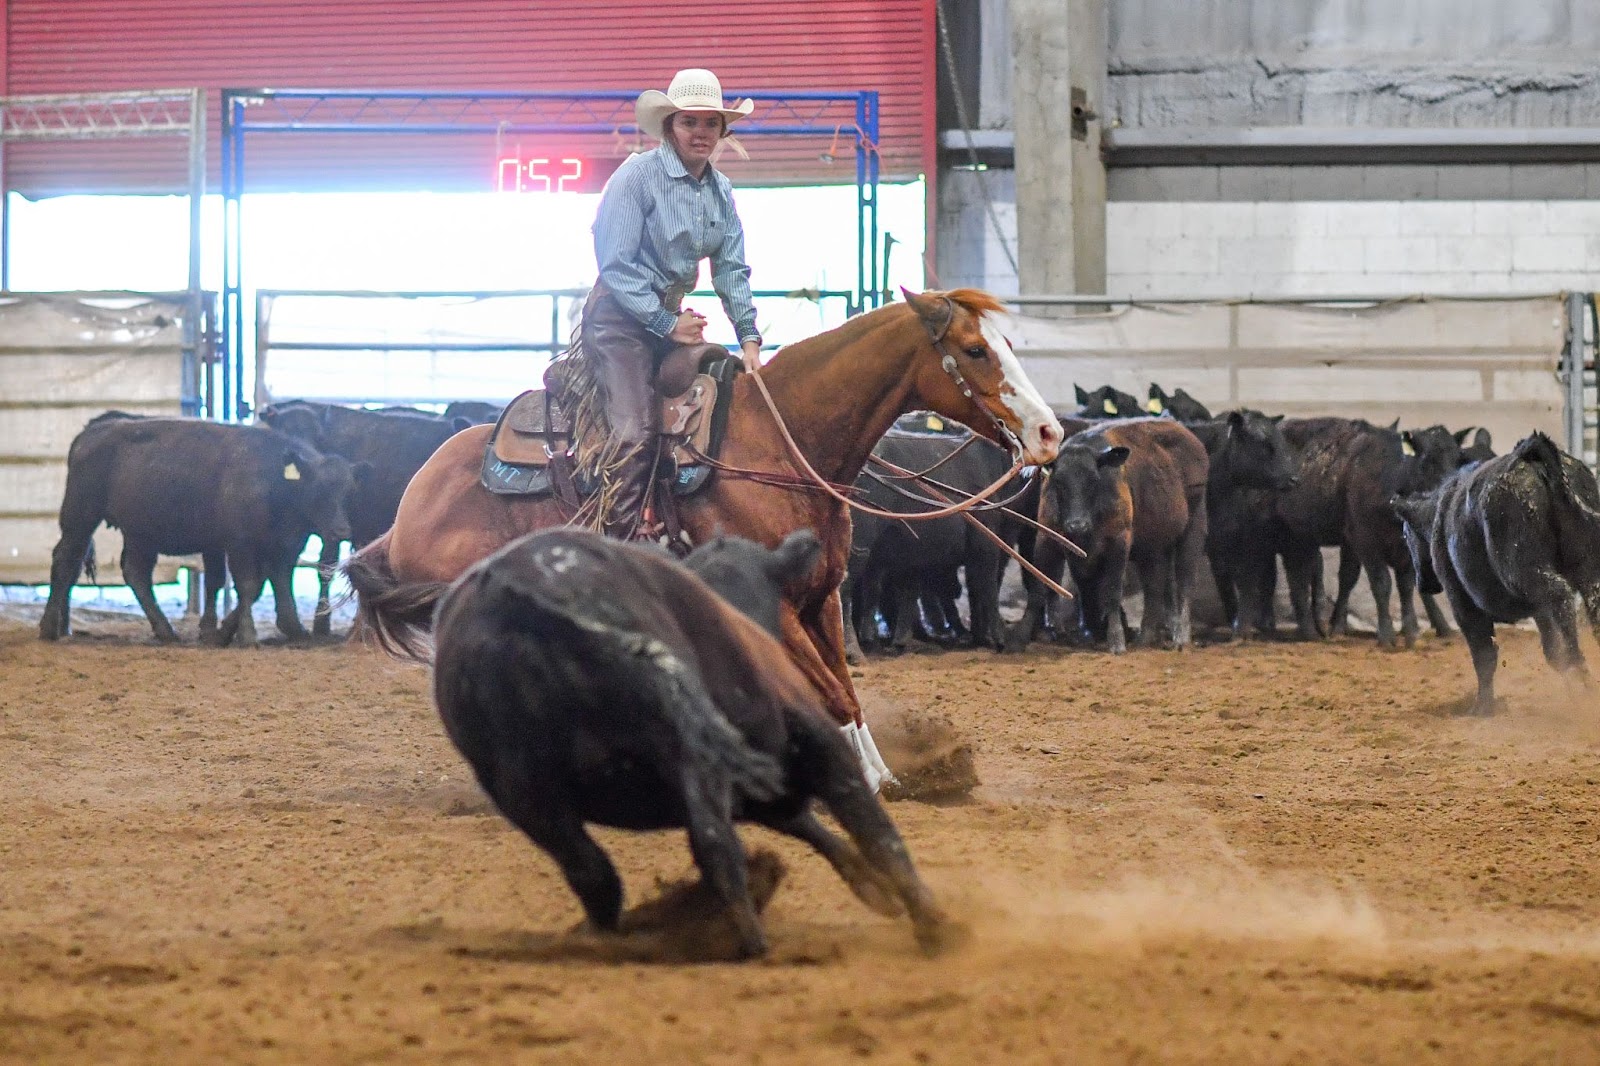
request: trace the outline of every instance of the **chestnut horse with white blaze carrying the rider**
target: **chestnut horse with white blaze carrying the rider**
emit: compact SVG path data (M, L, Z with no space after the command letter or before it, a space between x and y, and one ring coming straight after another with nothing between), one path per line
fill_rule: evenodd
M797 448L834 485L853 483L885 431L914 410L1016 443L1026 463L1050 463L1061 423L1002 336L1000 312L1000 303L978 290L907 291L906 303L784 347L760 370L762 381ZM440 445L411 479L389 533L346 563L360 597L358 624L390 650L421 658L416 631L429 626L434 603L458 575L502 544L571 517L552 496L496 496L478 483L491 429L474 426ZM802 469L747 375L733 383L720 461L778 480L794 480ZM838 584L850 555L848 507L819 488L717 472L678 511L696 544L730 533L771 547L795 530L816 531L822 563L803 587L789 589L782 643L853 741L867 778L877 784L888 776L845 664Z

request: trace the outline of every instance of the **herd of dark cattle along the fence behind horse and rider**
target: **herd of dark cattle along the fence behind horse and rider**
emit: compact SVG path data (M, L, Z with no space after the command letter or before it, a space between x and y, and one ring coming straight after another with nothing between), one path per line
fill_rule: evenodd
M1400 431L1254 410L1213 416L1182 389L1168 395L1152 384L1149 395L1141 403L1109 386L1078 389L1080 407L1058 411L1069 434L1059 458L973 515L859 515L843 589L853 655L902 648L918 632L1003 650L1045 631L1112 653L1130 639L1184 647L1203 562L1232 634L1272 634L1282 560L1294 635L1304 640L1346 631L1362 571L1386 647L1397 643L1392 592L1408 647L1419 631L1418 592L1435 631L1450 632L1434 599L1443 592L1472 645L1483 709L1493 701L1496 621L1536 618L1552 664L1581 669L1574 600L1600 635L1600 493L1546 437L1496 459L1482 429ZM205 562L202 639L254 642L251 607L264 584L274 586L278 629L306 635L290 579L315 533L325 565L314 632L326 634L341 543L378 538L438 445L496 415L482 403L430 415L304 400L262 408L254 426L101 415L69 453L40 635L69 632L70 587L85 567L93 575L91 535L102 522L123 533L125 581L158 640L178 637L150 589L155 559L187 554ZM901 419L875 456L882 469L926 472L909 482L874 464L861 475L859 496L898 514L928 509L930 493L976 493L1010 467L994 445L925 415ZM1323 547L1339 549L1331 608ZM1027 605L1006 626L1008 549L1053 583L1070 575L1075 599L1059 602L1024 573ZM218 621L216 592L229 571L238 605ZM1134 591L1144 599L1138 627L1123 607Z

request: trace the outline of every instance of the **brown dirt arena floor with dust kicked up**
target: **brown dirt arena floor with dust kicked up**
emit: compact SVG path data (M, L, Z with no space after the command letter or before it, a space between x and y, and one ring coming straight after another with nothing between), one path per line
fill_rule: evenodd
M1493 720L1459 640L870 661L974 746L971 799L891 804L971 940L920 956L752 829L787 879L733 965L566 935L419 667L34 616L0 615L8 1063L1600 1061L1600 698L1526 631ZM630 901L690 869L602 840Z

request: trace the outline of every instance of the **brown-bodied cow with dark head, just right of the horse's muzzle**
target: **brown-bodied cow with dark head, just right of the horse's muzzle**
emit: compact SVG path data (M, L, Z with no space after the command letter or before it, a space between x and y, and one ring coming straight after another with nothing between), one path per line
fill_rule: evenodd
M1144 586L1139 643L1154 645L1165 632L1182 648L1190 642L1189 602L1195 568L1205 554L1205 445L1170 418L1128 418L1067 437L1050 466L1040 520L1088 552L1072 559L1080 623L1104 639L1112 653L1126 650L1122 583L1128 563ZM1066 551L1038 538L1035 565L1054 579ZM1048 591L1024 576L1027 610L1006 647L1021 650L1043 618Z

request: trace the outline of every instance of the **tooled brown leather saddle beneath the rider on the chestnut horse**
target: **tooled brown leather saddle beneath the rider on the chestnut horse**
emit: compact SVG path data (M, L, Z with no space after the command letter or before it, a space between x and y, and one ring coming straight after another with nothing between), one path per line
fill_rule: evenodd
M672 456L672 495L688 496L709 479L707 458L722 451L730 387L744 371L720 344L675 347L656 370L661 434ZM549 389L530 389L506 405L483 450L480 480L502 496L555 491L578 503L594 488L579 485L571 416Z

